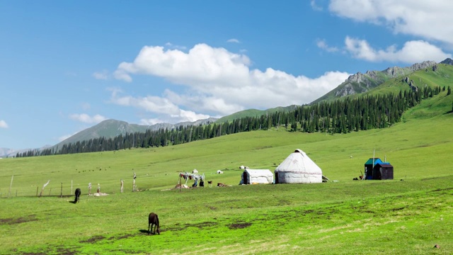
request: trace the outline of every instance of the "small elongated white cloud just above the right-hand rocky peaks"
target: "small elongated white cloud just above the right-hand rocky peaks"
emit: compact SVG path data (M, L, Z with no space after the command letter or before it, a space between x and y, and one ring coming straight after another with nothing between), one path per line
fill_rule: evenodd
M366 40L346 37L345 48L352 57L371 62L391 61L413 64L425 60L440 62L447 57L452 57L439 47L423 40L406 42L401 49L397 49L396 45L391 45L385 50L376 50Z

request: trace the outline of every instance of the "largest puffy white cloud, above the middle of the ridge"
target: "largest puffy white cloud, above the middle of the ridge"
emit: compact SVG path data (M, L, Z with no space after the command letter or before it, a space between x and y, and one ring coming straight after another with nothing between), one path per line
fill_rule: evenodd
M120 95L115 90L111 102L158 114L160 119L193 121L247 108L310 103L350 75L326 72L311 79L272 68L264 72L250 69L250 63L246 55L205 44L195 45L188 52L145 46L134 62L122 62L117 67L117 79L132 81L134 74L162 77L185 86L185 92L179 94L167 89L161 96L136 97Z

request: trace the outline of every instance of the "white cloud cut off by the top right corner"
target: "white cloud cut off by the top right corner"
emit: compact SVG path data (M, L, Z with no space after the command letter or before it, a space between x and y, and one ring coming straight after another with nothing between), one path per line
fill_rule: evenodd
M453 45L453 1L331 0L329 10L354 21L387 26L394 33L416 35Z

